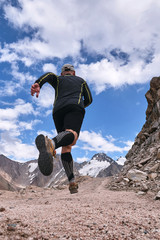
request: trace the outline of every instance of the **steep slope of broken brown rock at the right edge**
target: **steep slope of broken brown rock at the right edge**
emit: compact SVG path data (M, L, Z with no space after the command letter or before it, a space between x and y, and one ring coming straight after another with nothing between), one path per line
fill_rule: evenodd
M112 179L111 189L136 189L143 194L160 194L160 77L154 77L145 95L148 107L146 122L126 155L118 177Z

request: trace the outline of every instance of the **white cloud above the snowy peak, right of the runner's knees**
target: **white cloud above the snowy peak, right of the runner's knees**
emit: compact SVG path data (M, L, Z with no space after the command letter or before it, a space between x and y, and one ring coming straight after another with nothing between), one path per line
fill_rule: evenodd
M84 144L82 148L88 151L95 151L95 152L125 152L128 151L133 142L127 141L123 142L123 147L119 147L118 145L114 144L113 141L108 141L106 138L102 136L101 133L96 132L89 132L89 131L81 131L79 140L82 141Z

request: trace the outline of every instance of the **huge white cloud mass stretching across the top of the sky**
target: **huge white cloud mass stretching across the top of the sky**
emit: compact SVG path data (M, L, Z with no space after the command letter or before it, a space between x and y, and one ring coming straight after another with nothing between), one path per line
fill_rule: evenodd
M73 0L56 4L51 0L19 3L20 8L7 3L5 17L15 28L27 32L28 37L4 44L0 49L1 62L20 60L31 66L37 60L72 56L78 75L92 84L97 94L108 87L145 83L159 75L160 2L100 0L92 2L92 6L89 1ZM81 42L93 58L98 53L104 59L85 64L83 58L83 64L78 65L77 59L82 59ZM115 56L110 54L112 50ZM121 57L122 52L128 56L127 63ZM51 63L44 64L43 71L57 72ZM13 74L20 82L30 77L15 71ZM8 94L14 90L11 84Z

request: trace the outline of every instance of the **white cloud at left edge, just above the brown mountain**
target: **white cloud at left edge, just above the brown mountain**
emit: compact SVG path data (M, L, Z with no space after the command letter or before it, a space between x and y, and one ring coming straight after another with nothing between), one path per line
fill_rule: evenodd
M23 143L20 139L27 130L32 130L41 120L22 121L21 117L37 112L31 103L17 99L10 108L0 109L0 152L15 160L31 160L37 158L35 145Z

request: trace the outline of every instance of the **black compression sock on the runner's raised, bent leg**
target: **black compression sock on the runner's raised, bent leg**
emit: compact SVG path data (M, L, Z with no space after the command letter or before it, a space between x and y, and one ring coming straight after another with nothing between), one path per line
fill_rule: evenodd
M73 143L74 134L70 131L63 131L53 138L53 141L55 142L55 149L62 146L68 146Z

